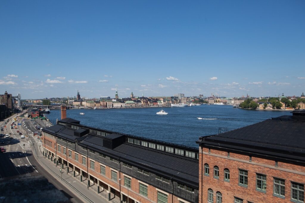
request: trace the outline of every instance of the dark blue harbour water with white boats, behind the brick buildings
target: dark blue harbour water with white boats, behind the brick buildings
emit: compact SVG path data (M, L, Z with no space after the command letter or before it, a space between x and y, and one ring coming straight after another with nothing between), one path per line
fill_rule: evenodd
M161 109L168 114L156 114ZM81 112L85 115L80 115ZM67 117L81 121L82 125L191 147L198 146L196 140L201 136L218 134L219 128L234 130L282 115L291 115L291 113L246 110L229 105L67 110ZM51 110L47 117L55 124L56 118L60 120L60 110Z

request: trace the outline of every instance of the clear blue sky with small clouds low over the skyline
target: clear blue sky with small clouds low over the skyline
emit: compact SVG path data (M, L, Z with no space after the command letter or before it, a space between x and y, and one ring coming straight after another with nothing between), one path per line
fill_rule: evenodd
M300 96L305 1L0 1L0 93Z

